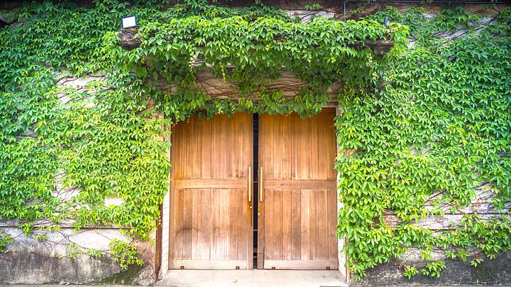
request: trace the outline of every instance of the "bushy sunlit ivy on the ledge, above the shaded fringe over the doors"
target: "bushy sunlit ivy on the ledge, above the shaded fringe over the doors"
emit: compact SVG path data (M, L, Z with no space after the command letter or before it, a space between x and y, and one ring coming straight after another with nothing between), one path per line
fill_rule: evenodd
M325 89L334 81L367 84L372 76L372 52L366 41L393 39L402 49L407 29L393 23L386 28L374 20L358 22L318 18L309 23L241 16L204 19L201 16L145 22L134 50L123 50L116 33L107 35L110 56L126 71L141 78L181 83L189 91L194 59L211 66L214 74L239 85L244 94L255 90L263 78L279 78L289 71ZM345 73L344 71L351 71Z

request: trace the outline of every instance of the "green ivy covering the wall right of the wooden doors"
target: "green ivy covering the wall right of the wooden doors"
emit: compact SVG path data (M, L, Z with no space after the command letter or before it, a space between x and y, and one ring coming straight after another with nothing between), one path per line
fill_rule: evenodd
M358 277L412 246L429 276L445 267L430 261L433 250L476 266L484 255L510 250L508 209L502 218L463 209L476 190L495 195L489 210L481 207L489 214L511 201L510 16L508 9L489 22L461 8L430 20L420 8L372 16L409 25L414 47L384 67L379 92L351 90L339 98L337 137L345 155L336 165L344 202L338 234L349 240ZM454 230L436 234L423 220L435 214L463 216ZM392 216L399 224L386 221ZM469 256L475 247L484 255ZM404 269L408 277L418 271Z

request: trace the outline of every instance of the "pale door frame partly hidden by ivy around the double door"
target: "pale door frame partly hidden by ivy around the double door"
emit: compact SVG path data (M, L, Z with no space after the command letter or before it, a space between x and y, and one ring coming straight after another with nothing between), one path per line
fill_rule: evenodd
M337 103L335 104L328 104L328 105L325 105L323 106L324 108L335 108L335 115L336 116L339 116L341 113L339 111L339 105ZM156 115L157 117L160 117L162 118L162 114L158 114ZM165 127L165 130L168 130L169 132L172 132L172 127ZM165 138L162 138L161 140L162 141L170 141L171 137L165 137ZM339 144L336 142L337 144L337 155L339 155L339 151L340 151L340 148L339 148ZM168 150L167 150L167 156L168 158L170 159L170 155L171 155L171 148L172 147L169 147ZM252 167L254 168L254 167ZM161 244L156 244L155 246L155 249L154 249L154 254L155 256L158 256L160 258L160 268L159 269L155 269L155 275L158 279L163 279L165 274L167 274L167 272L169 272L169 269L172 269L171 266L169 266L169 248L172 246L171 244L171 239L169 238L169 228L170 228L170 216L172 214L171 210L170 210L170 199L171 199L171 186L172 186L172 180L171 180L171 171L169 169L169 190L167 191L167 194L165 195L165 198L161 204L161 210L162 212L160 213L160 220L159 220L159 223L157 225L157 228L161 229L161 232L160 230L158 230L157 232L155 232L152 237L158 237L158 236L161 236L162 238L161 239L156 239L156 242L160 242ZM337 173L337 181L339 181L339 173ZM341 209L344 204L342 201L339 201L339 193L337 193L337 212L339 211L339 209ZM253 211L253 210L252 210ZM349 269L346 267L346 254L344 253L344 251L342 251L342 249L344 248L344 244L346 242L346 239L345 238L341 238L341 239L338 239L337 240L337 249L338 249L338 258L339 258L339 273L341 274L342 278L344 278L346 281L349 281L350 280L350 275L349 275ZM155 258L156 259L156 258ZM156 261L156 260L154 260ZM170 267L170 268L169 268Z

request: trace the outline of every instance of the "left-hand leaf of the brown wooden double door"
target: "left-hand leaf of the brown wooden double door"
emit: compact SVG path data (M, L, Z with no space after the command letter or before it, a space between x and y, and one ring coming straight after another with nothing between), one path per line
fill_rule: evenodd
M236 113L174 126L170 268L252 268L251 119Z

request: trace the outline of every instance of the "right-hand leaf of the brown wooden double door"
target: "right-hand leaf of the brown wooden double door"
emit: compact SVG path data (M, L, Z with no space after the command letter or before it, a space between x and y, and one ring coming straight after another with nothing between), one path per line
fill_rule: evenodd
M259 268L338 268L334 116L260 116Z

